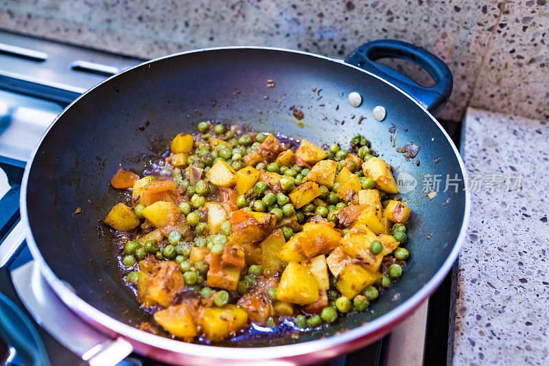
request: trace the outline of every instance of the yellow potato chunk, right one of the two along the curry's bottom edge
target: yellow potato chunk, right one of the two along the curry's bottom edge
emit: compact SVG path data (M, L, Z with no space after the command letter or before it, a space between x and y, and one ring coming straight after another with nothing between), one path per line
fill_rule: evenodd
M198 321L209 340L219 341L248 323L248 314L236 305L224 308L205 308Z

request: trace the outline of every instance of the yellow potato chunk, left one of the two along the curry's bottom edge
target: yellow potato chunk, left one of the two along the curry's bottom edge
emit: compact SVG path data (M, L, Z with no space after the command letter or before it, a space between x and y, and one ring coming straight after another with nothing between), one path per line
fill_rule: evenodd
M191 341L198 334L191 309L185 304L170 306L155 312L154 320L174 336L186 341Z

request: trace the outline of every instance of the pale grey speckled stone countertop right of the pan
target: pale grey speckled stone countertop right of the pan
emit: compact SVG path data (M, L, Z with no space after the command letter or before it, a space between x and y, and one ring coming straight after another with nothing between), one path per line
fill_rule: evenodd
M449 363L549 364L548 141L547 122L467 111L461 154L482 186L470 186L469 233L454 268ZM505 187L518 176L520 190ZM495 181L501 187L487 192Z

